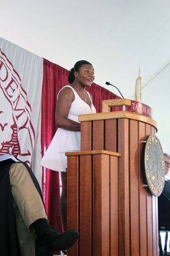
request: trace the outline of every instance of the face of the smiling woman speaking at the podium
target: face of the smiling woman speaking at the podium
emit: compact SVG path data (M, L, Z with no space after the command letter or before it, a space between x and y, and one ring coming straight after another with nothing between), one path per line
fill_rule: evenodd
M94 73L95 70L92 65L84 64L79 68L78 72L74 72L74 75L77 78L77 82L82 86L90 87L95 79Z

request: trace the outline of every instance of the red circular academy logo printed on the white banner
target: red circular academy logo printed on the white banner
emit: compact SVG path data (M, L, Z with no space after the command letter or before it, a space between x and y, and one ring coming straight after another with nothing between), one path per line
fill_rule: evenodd
M20 76L0 49L0 154L25 156L30 163L35 140L30 116L31 106Z

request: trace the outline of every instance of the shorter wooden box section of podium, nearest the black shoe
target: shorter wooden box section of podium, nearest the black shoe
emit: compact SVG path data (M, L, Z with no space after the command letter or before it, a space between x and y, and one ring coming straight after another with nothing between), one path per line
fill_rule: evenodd
M68 256L118 254L118 156L105 150L68 156L68 229L80 237ZM117 239L115 239L115 236Z

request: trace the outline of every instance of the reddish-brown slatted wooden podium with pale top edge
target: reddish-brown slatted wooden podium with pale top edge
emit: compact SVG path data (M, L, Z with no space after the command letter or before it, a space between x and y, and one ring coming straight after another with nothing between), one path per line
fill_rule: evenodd
M146 188L142 157L157 123L128 111L79 121L81 152L66 155L68 229L80 237L68 256L158 256L157 197Z

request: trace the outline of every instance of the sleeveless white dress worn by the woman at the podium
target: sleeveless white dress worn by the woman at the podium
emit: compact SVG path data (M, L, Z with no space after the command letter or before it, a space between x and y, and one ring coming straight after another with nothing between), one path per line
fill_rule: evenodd
M65 87L72 86L66 85ZM63 87L64 88L64 87ZM61 90L63 89L61 88ZM95 106L91 102L91 108L79 97L78 93L72 88L75 99L72 102L68 118L78 121L79 115L96 113ZM89 93L88 93L89 95ZM91 97L89 96L91 99ZM68 131L62 128L58 128L54 137L45 152L40 165L50 170L66 172L67 157L65 152L79 151L81 150L81 132Z

